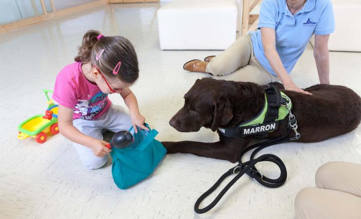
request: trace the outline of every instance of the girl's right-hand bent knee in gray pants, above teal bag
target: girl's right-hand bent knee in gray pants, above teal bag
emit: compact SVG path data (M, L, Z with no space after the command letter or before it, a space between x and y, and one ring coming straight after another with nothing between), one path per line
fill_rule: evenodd
M118 132L132 127L130 115L121 106L112 104L105 118L103 125L109 131Z

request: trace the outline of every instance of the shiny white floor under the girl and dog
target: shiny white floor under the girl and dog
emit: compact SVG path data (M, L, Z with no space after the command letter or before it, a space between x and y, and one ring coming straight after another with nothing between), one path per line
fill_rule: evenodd
M160 51L156 11L159 3L103 6L78 15L47 21L0 36L0 218L295 218L298 191L314 186L317 168L329 161L361 163L361 127L316 144L283 144L263 152L281 157L288 179L277 189L262 187L244 177L210 212L197 215L193 206L226 170L226 161L190 154L167 155L154 175L128 190L113 183L111 165L85 169L71 143L61 135L39 145L34 139L18 140L17 126L43 113L41 89L53 89L60 69L73 62L81 37L89 29L104 35L122 35L135 45L140 79L133 91L140 111L160 141L212 142L215 133L180 133L168 125L183 105L183 94L201 73L187 73L182 64L220 51ZM361 53L331 52L331 83L361 94ZM318 83L313 50L308 46L292 72L301 87ZM115 94L110 98L124 105ZM330 97L332 98L332 97ZM276 167L260 165L265 175ZM215 195L207 199L207 203Z

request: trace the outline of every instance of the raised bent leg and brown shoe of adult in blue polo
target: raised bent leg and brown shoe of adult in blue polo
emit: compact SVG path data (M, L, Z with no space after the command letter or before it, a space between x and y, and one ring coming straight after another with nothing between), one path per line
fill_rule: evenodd
M250 35L238 38L232 45L221 54L212 58L210 62L201 60L189 61L183 69L190 72L211 73L213 75L230 74L249 63L252 53Z

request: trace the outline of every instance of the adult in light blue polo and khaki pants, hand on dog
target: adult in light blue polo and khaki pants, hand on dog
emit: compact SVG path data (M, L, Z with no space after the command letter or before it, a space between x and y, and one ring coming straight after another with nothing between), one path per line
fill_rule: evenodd
M329 84L327 43L334 30L331 0L263 0L257 31L240 37L220 55L186 62L183 69L260 85L281 81L286 90L309 94L289 73L315 34L320 83Z

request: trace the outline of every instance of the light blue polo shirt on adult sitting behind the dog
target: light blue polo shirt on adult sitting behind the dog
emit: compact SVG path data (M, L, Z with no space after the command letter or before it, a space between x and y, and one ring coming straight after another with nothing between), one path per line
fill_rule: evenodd
M256 58L273 75L264 55L261 27L276 30L276 51L281 57L287 73L290 73L302 55L313 34L327 35L335 30L331 0L306 0L303 8L295 15L288 10L286 0L263 0L257 31L252 34L252 45Z

